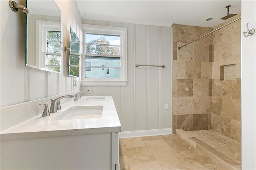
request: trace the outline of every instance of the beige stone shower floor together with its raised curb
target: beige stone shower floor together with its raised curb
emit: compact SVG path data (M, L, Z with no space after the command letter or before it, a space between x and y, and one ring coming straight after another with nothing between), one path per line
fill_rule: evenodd
M176 134L223 169L241 169L241 143L214 130L184 131Z

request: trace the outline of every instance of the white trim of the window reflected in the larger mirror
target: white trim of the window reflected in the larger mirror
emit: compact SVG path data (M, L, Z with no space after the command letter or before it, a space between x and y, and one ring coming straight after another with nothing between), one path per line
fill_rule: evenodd
M61 31L60 22L54 21L42 21L36 20L36 64L40 66L41 69L45 69L45 55L47 52L46 49L46 30L53 30L53 31ZM51 53L60 55L62 58L61 51L60 53ZM60 62L60 71L61 71L61 62ZM48 69L46 69L48 70ZM51 70L52 72L56 72ZM56 72L59 73L59 72Z

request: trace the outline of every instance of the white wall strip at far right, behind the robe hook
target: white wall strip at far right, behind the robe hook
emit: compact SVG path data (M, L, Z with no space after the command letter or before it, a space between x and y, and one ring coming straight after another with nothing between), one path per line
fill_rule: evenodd
M242 0L242 28L256 29L256 1ZM256 169L256 34L242 34L241 66L241 121L242 121L242 169Z

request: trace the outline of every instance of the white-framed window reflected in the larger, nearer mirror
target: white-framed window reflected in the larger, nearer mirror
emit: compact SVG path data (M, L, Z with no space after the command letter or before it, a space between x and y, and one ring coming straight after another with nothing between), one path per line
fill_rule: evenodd
M37 61L41 68L60 72L60 23L36 20ZM42 43L40 43L42 42Z

